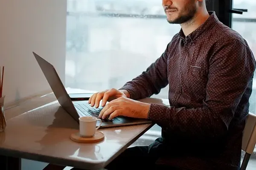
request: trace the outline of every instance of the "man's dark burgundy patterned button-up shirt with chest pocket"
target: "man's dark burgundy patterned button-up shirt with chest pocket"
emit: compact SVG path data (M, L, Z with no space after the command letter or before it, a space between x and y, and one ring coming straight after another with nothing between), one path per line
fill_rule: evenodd
M188 36L181 29L162 56L121 89L142 99L169 84L171 107L151 104L148 113L162 127L166 154L159 164L237 170L255 59L240 34L209 14Z

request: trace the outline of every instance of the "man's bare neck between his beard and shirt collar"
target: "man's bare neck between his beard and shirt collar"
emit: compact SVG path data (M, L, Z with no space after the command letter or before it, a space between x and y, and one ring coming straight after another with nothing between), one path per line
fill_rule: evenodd
M186 23L180 24L182 31L185 36L189 35L195 31L199 26L201 26L209 17L207 9L198 11L192 20L189 20Z

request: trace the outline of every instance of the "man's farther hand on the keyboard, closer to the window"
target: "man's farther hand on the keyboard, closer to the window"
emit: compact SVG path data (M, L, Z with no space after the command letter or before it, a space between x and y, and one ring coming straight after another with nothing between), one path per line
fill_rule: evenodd
M106 105L107 102L110 102L114 99L118 99L119 97L130 97L130 94L126 90L116 90L112 88L111 90L105 90L99 93L93 94L88 103L93 107L95 105L96 108L99 107L99 102L102 100L102 107Z

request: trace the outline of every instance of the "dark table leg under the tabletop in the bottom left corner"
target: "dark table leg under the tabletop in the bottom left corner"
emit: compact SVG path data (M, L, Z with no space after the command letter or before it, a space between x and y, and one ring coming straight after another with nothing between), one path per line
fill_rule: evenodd
M21 159L10 156L0 156L1 170L21 170Z

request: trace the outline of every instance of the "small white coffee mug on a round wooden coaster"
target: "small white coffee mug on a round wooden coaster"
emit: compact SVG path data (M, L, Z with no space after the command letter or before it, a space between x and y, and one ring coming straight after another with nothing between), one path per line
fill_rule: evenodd
M99 126L96 127L96 123L99 121ZM81 137L90 138L96 133L96 130L102 124L102 120L93 116L85 116L79 118L79 133Z

